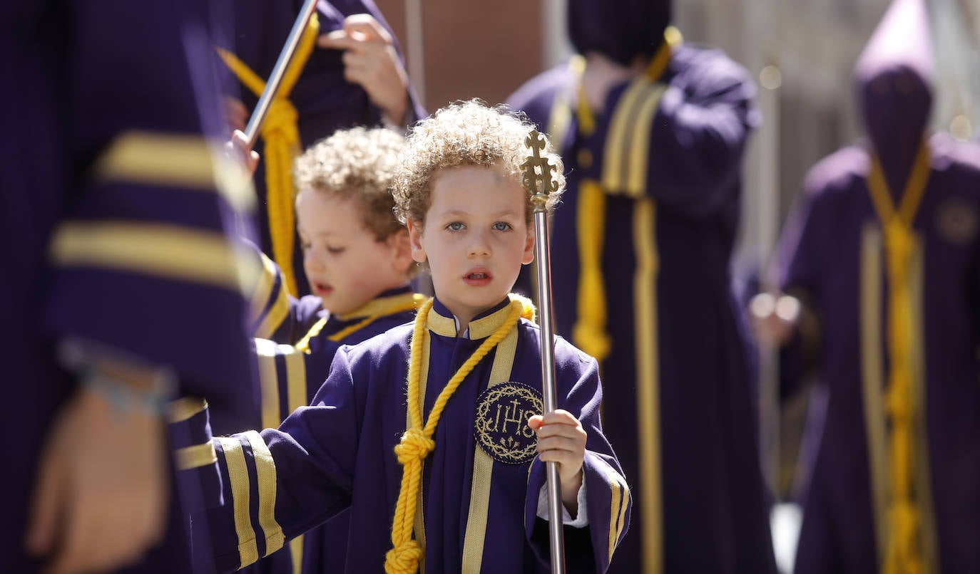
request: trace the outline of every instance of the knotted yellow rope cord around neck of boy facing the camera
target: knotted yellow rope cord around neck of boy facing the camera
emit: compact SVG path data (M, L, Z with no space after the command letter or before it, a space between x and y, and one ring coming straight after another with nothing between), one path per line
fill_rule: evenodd
M504 337L515 328L517 320L527 314L526 299L512 299L511 313L508 315L504 324L488 336L480 346L473 351L473 354L466 360L443 387L432 406L428 420L422 426L422 403L424 397L420 396L419 379L421 377L422 364L422 339L426 328L426 319L429 310L432 309L432 299L425 301L418 309L416 316L415 330L412 333L412 350L409 355L409 417L412 426L402 435L402 440L395 447L395 454L398 462L404 466L402 472L402 487L398 492L398 504L395 506L395 516L391 525L391 544L392 549L385 555L384 571L387 574L415 574L418 571L418 563L425 555L424 549L413 537L413 528L416 522L416 505L418 491L421 488L422 461L430 452L435 449L435 441L432 434L435 427L439 424L443 409L450 397L456 392L457 387L466 378L466 375L473 370ZM533 307L532 311L533 313Z

